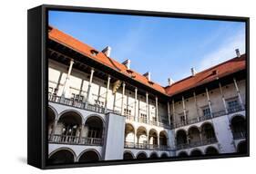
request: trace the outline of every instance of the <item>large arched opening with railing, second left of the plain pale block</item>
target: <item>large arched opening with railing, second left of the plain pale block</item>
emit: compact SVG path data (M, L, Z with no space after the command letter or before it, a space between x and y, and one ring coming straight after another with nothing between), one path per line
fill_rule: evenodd
M67 111L63 113L58 121L56 128L56 136L62 143L77 143L81 131L82 118L75 111Z

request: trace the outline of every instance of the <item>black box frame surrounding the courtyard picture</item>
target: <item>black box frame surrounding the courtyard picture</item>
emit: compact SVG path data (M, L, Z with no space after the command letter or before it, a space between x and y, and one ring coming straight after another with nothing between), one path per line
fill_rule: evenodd
M47 59L46 44L49 10L88 12L99 14L129 14L144 16L162 16L188 19L208 19L220 21L236 21L246 23L246 121L247 121L247 153L220 154L216 156L169 158L159 160L109 160L97 163L75 163L47 165ZM178 160L207 160L250 156L250 18L240 16L179 14L169 12L137 11L128 9L108 9L66 5L40 5L27 11L27 163L39 169L59 169L89 166L107 166L120 164L138 164L148 162L164 162Z

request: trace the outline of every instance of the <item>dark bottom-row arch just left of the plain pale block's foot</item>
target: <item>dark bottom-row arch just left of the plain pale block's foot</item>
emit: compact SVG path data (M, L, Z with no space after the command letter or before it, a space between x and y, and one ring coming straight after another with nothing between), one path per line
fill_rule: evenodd
M87 149L80 153L78 162L96 162L101 159L97 150Z

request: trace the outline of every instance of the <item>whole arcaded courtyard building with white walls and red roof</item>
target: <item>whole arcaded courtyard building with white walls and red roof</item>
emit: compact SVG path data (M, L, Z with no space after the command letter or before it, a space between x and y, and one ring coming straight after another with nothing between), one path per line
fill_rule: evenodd
M110 53L49 26L50 164L247 152L246 54L164 87Z

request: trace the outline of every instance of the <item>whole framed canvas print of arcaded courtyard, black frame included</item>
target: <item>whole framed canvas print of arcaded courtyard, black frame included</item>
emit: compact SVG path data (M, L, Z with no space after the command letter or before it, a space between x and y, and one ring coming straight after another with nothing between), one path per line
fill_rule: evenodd
M249 156L249 18L58 5L27 17L28 164Z

